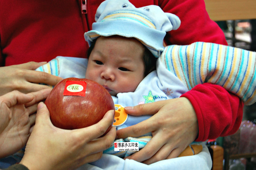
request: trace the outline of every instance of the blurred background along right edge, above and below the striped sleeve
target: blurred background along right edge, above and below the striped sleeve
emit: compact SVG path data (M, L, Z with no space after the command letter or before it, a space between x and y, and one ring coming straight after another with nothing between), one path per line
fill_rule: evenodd
M256 0L204 0L229 46L256 51ZM255 82L256 83L256 82ZM212 170L256 170L256 103L244 106L240 129L208 142Z

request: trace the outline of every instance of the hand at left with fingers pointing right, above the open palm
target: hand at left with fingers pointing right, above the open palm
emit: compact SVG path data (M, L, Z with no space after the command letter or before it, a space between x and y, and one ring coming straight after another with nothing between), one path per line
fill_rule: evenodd
M49 89L50 87L47 85L56 85L62 80L61 77L35 71L45 63L31 61L20 65L0 67L0 96L13 90L31 93L41 89ZM47 85L40 85L39 83Z

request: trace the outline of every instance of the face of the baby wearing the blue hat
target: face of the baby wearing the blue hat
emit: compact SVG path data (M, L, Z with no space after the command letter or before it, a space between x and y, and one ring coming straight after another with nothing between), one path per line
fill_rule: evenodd
M136 39L101 36L89 56L85 78L98 82L112 96L134 92L144 78L143 53Z

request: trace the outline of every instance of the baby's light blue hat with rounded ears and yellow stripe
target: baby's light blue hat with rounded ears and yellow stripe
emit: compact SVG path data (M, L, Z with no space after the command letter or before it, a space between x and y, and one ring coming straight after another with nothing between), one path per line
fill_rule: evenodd
M163 52L166 32L180 26L179 17L156 5L136 8L129 0L106 0L100 4L92 30L85 32L89 46L99 36L134 37L155 57Z

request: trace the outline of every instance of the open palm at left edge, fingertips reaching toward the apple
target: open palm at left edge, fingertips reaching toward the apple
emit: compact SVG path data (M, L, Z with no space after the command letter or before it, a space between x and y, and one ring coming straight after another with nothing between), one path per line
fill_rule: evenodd
M0 158L25 146L35 124L37 104L50 92L51 89L28 94L12 91L0 97Z

